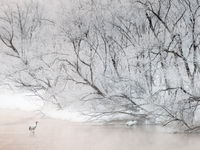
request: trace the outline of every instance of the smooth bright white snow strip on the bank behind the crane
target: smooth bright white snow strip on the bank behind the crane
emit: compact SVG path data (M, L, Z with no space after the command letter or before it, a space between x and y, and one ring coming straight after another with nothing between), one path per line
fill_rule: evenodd
M22 111L41 111L45 116L69 120L74 122L83 122L88 118L81 113L64 108L63 110L58 110L55 106L51 104L45 104L40 99L30 96L28 93L16 93L7 90L0 91L0 109L18 109Z

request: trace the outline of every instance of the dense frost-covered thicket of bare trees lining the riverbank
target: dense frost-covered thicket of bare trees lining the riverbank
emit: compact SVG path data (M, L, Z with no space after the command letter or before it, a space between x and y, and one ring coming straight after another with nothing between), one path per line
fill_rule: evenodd
M96 117L198 129L199 0L85 0L60 19L43 9L33 1L2 7L2 53L17 62L6 82L60 108L70 88L81 89Z

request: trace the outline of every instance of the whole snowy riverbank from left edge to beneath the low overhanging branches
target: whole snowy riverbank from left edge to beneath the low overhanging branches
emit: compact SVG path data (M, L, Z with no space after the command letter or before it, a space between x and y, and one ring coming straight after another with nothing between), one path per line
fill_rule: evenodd
M78 104L77 104L78 103ZM52 103L44 102L30 93L15 92L11 90L0 89L0 109L21 110L26 112L39 112L46 117L67 120L72 122L87 122L93 120L94 122L103 123L113 120L129 120L131 116L113 114L109 116L102 116L96 119L86 115L82 111L83 107L79 102L74 102L63 109L58 109ZM86 109L84 109L86 110ZM88 112L89 110L87 110ZM124 123L125 124L125 123Z

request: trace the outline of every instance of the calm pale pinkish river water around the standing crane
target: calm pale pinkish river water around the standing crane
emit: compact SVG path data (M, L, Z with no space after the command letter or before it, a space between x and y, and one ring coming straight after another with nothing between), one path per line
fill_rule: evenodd
M28 131L39 121L35 135ZM0 150L200 150L200 136L155 127L92 125L0 110Z

